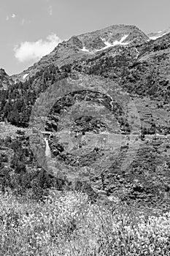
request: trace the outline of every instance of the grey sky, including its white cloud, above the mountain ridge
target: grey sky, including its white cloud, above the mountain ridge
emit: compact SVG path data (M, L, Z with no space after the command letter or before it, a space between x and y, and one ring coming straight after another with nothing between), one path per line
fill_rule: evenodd
M13 75L73 35L114 24L170 27L169 0L0 0L0 68Z

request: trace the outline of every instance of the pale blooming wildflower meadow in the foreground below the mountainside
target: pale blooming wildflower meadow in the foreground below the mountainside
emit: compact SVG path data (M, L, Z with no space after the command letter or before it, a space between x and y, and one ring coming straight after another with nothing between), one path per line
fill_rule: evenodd
M170 213L145 216L81 192L0 197L0 255L170 255Z

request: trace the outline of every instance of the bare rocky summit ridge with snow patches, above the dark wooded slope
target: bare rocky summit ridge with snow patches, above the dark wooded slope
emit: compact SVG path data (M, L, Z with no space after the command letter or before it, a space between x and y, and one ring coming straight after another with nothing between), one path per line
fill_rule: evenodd
M40 61L20 74L13 75L12 79L24 81L51 64L62 67L64 64L70 64L74 60L93 58L93 55L98 51L110 47L137 45L147 42L148 39L147 35L136 26L125 25L109 26L106 29L74 36L67 41L59 43L50 54L42 57Z

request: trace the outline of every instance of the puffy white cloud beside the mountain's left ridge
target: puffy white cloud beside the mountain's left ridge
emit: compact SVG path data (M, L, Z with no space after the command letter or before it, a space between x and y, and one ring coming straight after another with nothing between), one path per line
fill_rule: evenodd
M39 39L36 42L21 42L15 45L15 58L20 62L38 61L42 56L50 53L62 40L56 34L50 34L47 39Z

